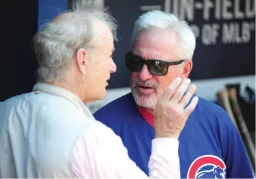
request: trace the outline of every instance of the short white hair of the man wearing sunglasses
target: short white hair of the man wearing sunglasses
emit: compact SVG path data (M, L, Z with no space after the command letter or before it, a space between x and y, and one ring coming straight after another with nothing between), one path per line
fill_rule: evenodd
M195 50L195 35L190 26L175 15L160 10L148 11L136 20L132 31L133 46L141 31L154 29L174 31L178 35L178 53L183 60L192 60Z

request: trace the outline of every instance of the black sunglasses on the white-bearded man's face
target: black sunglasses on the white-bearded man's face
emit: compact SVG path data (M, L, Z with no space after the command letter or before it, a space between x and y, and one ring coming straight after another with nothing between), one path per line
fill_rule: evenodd
M137 55L132 54L132 52L125 54L125 65L132 72L140 72L143 65L146 64L149 72L152 75L163 76L168 72L168 67L170 65L179 65L185 60L179 60L176 62L165 62L162 60L145 60Z

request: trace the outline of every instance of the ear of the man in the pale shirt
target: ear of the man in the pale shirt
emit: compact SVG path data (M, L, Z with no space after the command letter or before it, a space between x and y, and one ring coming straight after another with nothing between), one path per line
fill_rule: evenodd
M75 60L78 70L82 75L86 74L86 63L88 61L87 58L87 51L84 48L79 48L78 52L76 52Z

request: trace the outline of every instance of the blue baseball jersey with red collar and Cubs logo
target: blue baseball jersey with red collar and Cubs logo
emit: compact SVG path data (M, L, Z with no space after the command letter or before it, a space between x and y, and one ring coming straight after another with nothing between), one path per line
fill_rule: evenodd
M122 138L130 158L148 175L153 115L139 110L129 93L94 116ZM241 136L220 106L199 97L179 141L182 178L253 178Z

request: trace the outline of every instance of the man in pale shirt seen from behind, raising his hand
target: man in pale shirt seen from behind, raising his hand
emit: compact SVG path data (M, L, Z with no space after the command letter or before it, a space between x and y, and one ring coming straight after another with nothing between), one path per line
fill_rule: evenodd
M89 1L38 31L38 84L0 104L0 178L180 178L178 136L197 104L183 109L194 94L183 95L188 83L175 80L156 104L149 176L84 105L106 94L115 32L112 16Z

